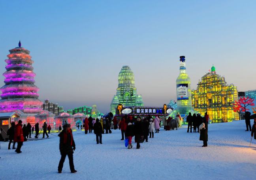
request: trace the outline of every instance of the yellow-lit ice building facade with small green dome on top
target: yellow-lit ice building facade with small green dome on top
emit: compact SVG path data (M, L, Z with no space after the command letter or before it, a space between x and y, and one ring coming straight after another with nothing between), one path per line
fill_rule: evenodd
M238 113L233 111L232 104L238 100L237 87L228 85L224 77L216 74L215 67L205 74L198 83L196 90L192 90L192 105L202 115L208 112L213 123L230 122L239 119Z

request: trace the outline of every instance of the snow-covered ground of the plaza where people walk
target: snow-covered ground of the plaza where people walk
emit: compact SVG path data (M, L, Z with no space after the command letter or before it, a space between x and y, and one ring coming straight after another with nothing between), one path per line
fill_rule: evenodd
M251 122L252 123L252 122ZM250 145L245 121L209 125L208 147L201 147L199 133L161 129L141 149L124 147L120 130L103 134L96 144L94 134L73 132L75 174L70 173L68 157L62 174L57 173L59 138L27 141L17 154L1 142L0 179L255 179L256 141ZM40 135L41 136L41 135ZM42 136L41 136L42 137Z

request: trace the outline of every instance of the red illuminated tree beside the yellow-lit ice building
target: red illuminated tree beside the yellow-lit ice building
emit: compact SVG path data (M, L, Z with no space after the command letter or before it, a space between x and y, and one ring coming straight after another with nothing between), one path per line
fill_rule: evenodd
M233 110L234 112L238 112L239 114L239 120L240 120L240 114L241 112L246 112L247 110L249 110L248 106L254 106L254 99L249 98L249 97L240 97L238 99L238 101L235 101L235 103L233 103Z

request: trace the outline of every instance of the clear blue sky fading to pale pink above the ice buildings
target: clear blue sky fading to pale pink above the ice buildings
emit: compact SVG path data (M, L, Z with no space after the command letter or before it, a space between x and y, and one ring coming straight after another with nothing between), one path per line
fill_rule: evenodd
M0 1L0 72L10 49L30 50L40 99L108 112L123 65L145 105L176 99L179 56L192 88L211 68L256 89L255 1ZM1 68L2 67L2 68ZM4 77L0 82L4 85Z

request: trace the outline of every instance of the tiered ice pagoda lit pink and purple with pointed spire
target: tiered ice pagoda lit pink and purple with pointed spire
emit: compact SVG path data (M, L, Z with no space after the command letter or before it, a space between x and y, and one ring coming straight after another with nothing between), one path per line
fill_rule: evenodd
M39 113L43 104L38 99L39 88L34 85L34 77L30 51L21 47L9 50L8 59L5 60L6 72L3 73L5 85L0 100L0 112L14 112L21 110L24 113Z

